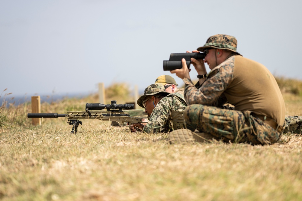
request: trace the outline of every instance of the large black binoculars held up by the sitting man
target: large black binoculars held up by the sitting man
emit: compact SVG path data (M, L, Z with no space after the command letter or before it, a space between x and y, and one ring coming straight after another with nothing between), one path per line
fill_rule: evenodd
M170 54L169 61L163 62L164 71L172 71L182 68L182 58L185 58L188 68L190 68L191 58L204 59L204 53L172 53Z

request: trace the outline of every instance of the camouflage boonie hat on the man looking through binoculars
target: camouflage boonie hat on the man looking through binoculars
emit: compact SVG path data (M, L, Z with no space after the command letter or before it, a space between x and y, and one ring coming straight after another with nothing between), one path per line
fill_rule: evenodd
M239 54L237 52L237 39L234 36L229 36L225 34L217 34L214 36L210 36L207 39L206 44L204 44L204 46L202 47L197 48L197 50L200 52L204 52L204 49L206 48L225 49Z

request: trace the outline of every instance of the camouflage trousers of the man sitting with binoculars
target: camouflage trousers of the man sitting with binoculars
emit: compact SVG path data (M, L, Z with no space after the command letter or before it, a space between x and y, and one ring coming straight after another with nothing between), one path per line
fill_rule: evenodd
M279 140L278 133L251 111L237 111L233 107L193 104L184 111L187 128L204 132L224 141L272 144Z

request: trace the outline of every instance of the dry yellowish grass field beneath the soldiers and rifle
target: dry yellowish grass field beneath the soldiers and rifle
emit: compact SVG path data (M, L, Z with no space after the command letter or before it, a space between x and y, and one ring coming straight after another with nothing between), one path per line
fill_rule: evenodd
M288 89L286 115L302 116L299 89ZM97 99L45 103L41 112L82 111L86 102ZM76 135L65 118L33 126L30 112L30 103L0 108L0 200L302 200L301 135L270 146L175 145L167 134L100 120L83 120Z

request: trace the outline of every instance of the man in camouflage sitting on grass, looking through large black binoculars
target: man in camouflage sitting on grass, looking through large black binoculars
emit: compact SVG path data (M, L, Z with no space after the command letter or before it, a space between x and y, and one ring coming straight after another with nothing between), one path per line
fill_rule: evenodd
M204 59L190 60L198 72L199 88L191 81L186 59L182 59L181 69L170 71L185 83L188 107L184 118L189 129L172 131L169 136L172 142L215 138L272 144L279 140L285 116L279 86L264 65L244 58L236 48L234 36L217 34L193 51L204 53ZM211 69L209 74L204 63Z

